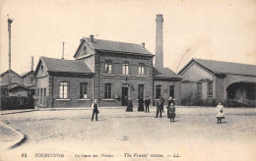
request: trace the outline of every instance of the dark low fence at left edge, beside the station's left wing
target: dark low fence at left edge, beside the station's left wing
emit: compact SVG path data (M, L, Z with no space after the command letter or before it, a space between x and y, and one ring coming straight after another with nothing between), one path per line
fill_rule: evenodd
M34 100L32 97L22 96L2 96L1 111L3 110L18 110L18 109L33 109Z

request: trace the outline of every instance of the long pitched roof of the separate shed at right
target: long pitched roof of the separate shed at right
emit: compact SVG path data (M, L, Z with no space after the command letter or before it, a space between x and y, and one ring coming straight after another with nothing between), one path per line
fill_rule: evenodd
M235 74L235 75L256 76L256 66L254 65L205 60L205 59L192 59L182 70L180 70L178 74L184 71L186 67L188 67L188 65L193 61L203 66L204 68L206 68L207 70L209 70L214 74Z

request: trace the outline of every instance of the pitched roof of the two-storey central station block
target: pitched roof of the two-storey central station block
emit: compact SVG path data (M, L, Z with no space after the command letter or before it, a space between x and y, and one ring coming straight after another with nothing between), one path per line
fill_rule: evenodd
M146 48L143 48L141 44L103 40L103 39L96 39L96 38L94 38L94 43L91 43L89 37L85 37L84 40L89 42L89 44L91 44L96 50L99 50L99 51L112 51L112 52L122 52L122 53L154 56Z

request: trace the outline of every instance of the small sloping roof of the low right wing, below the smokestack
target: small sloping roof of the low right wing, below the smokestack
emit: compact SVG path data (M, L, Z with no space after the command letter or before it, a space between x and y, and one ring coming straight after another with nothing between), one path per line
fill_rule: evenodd
M180 76L178 76L176 73L174 73L173 71L171 71L168 68L153 68L153 78L157 78L157 79L179 79L181 80L182 78Z

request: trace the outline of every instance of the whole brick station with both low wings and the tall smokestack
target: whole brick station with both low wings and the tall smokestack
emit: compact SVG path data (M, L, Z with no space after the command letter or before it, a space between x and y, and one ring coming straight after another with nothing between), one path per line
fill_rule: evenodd
M100 106L125 106L127 98L147 95L153 104L172 96L180 104L181 78L163 68L162 15L157 19L156 67L145 43L134 44L83 37L75 60L40 57L35 70L38 106L87 107L97 98Z

